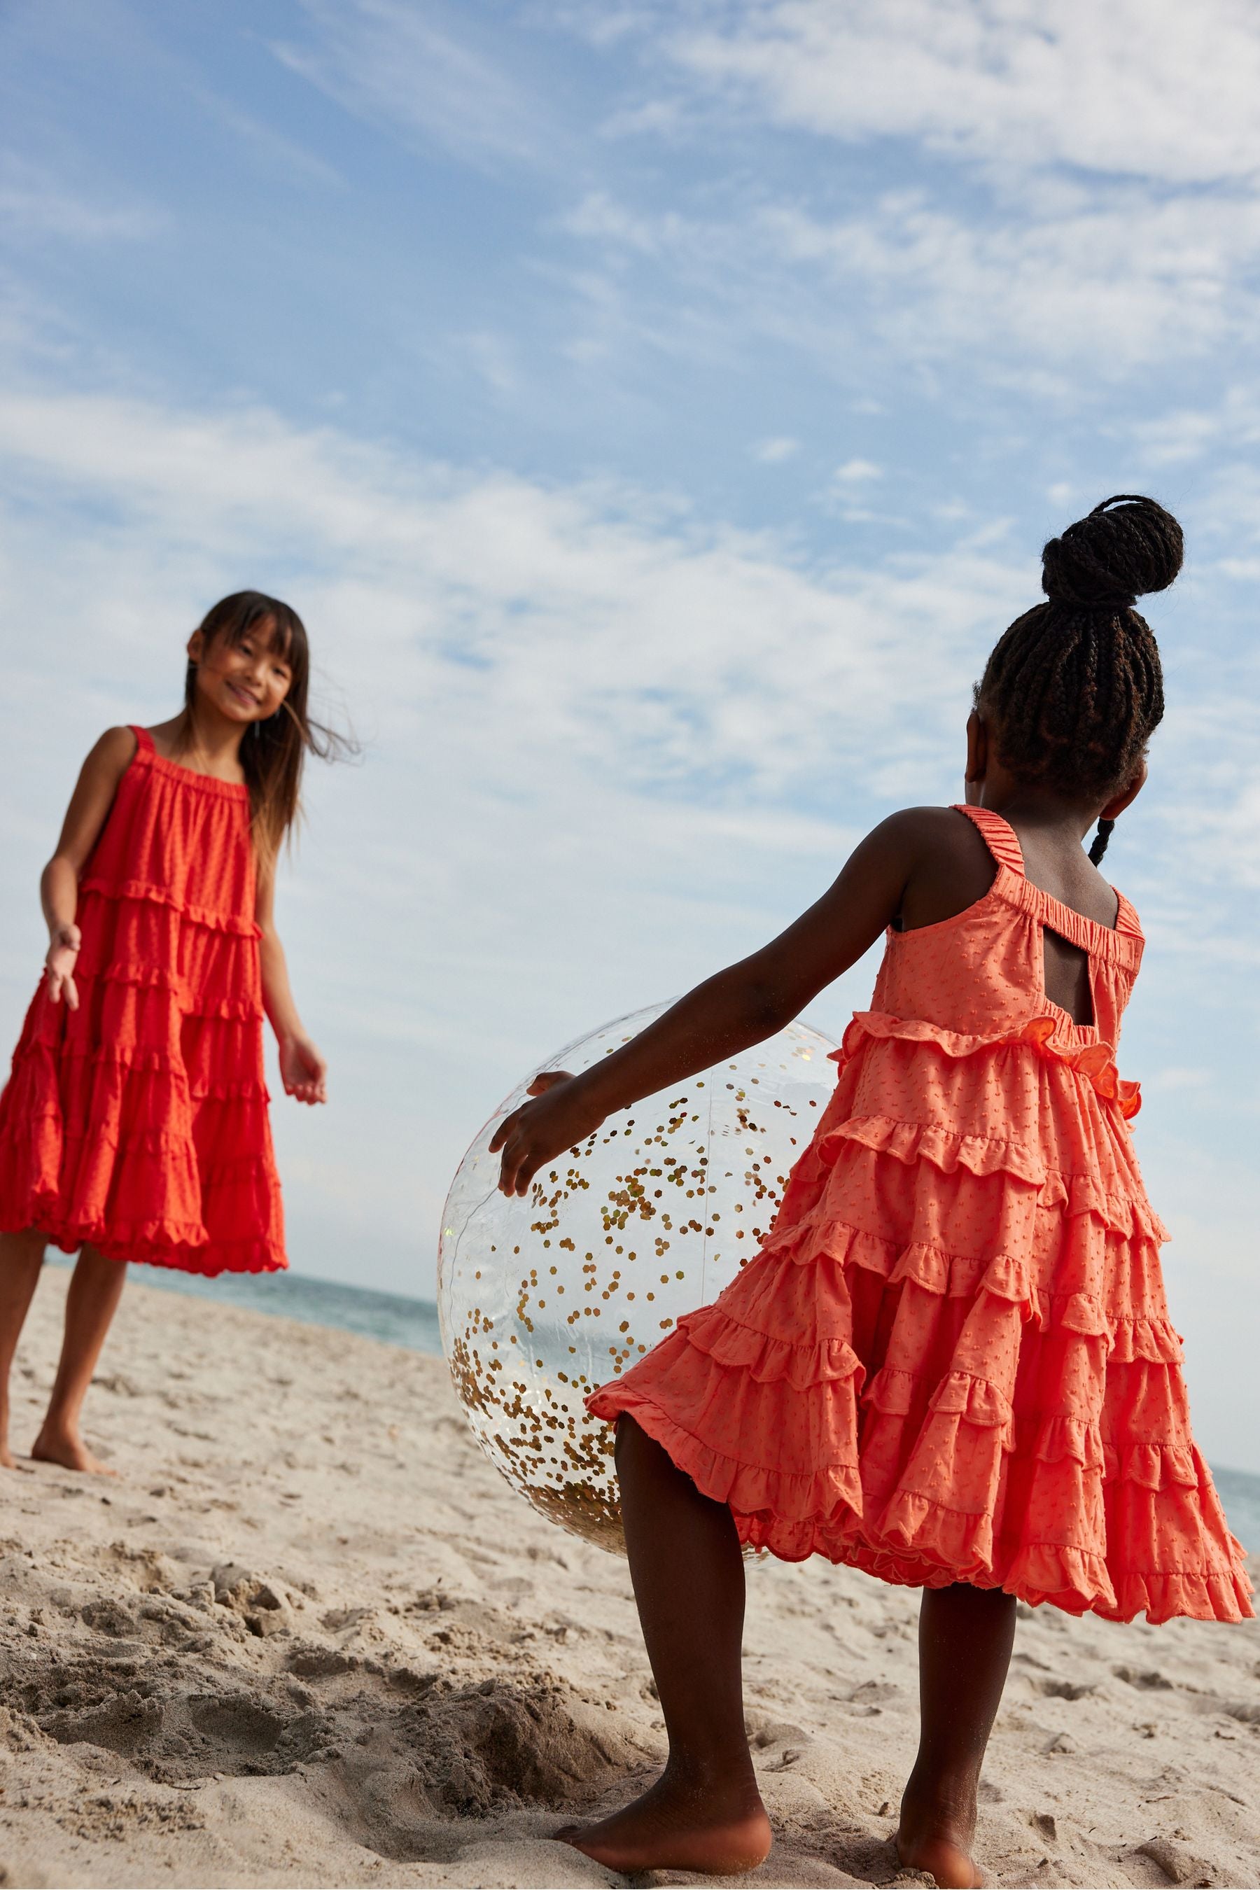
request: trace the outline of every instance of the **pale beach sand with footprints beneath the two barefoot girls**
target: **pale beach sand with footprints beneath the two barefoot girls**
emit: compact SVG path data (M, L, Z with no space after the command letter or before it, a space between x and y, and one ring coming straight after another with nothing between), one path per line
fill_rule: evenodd
M19 1355L19 1450L66 1280L45 1270ZM625 1565L512 1493L438 1359L142 1280L89 1402L117 1482L0 1482L0 1882L625 1881L550 1837L663 1750ZM750 1571L776 1843L746 1882L897 1879L916 1606ZM1260 1882L1256 1624L1020 1614L990 1882Z

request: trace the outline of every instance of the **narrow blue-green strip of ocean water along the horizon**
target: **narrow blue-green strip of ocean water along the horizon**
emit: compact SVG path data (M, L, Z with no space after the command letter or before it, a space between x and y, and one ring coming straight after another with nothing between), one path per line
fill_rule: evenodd
M68 1264L68 1263L66 1263ZM198 1280L195 1274L168 1272L162 1266L136 1268L145 1285L168 1293L191 1293L196 1298L227 1300L249 1312L281 1314L304 1325L329 1325L342 1332L361 1332L387 1346L406 1346L410 1351L442 1349L438 1336L438 1308L433 1300L406 1298L400 1293L374 1293L368 1287L336 1285L331 1280L312 1280L306 1274L221 1274L217 1280ZM1230 1527L1239 1542L1260 1555L1260 1476L1213 1465L1213 1476L1224 1503Z

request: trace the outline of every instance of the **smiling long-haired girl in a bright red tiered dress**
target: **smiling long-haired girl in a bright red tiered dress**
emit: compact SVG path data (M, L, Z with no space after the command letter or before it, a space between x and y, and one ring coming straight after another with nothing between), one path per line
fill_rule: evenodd
M325 1062L272 920L280 843L308 748L300 618L238 592L189 643L185 703L111 728L79 775L43 869L45 975L0 1096L0 1465L13 1351L49 1242L79 1253L32 1455L104 1469L83 1397L127 1261L193 1274L287 1264L263 1081L263 1015L298 1102Z

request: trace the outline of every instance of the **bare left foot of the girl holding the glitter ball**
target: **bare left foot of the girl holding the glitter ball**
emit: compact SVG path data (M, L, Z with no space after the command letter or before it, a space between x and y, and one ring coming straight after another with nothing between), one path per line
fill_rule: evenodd
M710 1778L684 1780L667 1767L625 1811L555 1833L610 1871L754 1871L767 1856L771 1820L756 1786L731 1792Z

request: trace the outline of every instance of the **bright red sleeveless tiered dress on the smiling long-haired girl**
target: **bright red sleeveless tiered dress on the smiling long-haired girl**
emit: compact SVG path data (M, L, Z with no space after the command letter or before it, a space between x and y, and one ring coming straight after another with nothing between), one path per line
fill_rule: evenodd
M287 1261L249 792L134 735L79 881L79 1007L40 987L0 1096L0 1230L191 1274L272 1272Z

